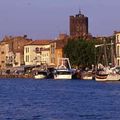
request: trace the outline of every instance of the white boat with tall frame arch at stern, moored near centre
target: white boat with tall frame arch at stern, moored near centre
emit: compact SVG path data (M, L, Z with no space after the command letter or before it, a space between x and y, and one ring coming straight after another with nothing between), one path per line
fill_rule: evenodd
M72 79L69 58L59 58L57 68L54 70L54 79Z

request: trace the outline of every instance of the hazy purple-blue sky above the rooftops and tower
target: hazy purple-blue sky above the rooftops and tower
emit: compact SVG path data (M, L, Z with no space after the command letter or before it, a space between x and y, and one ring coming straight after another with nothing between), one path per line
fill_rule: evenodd
M89 19L89 33L109 36L120 31L120 0L0 0L0 40L5 35L55 39L69 35L69 16Z

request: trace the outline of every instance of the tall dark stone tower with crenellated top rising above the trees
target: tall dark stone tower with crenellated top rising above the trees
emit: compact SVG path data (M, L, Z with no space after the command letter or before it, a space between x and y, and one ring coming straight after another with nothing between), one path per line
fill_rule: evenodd
M88 17L81 14L70 16L70 36L83 37L88 35Z

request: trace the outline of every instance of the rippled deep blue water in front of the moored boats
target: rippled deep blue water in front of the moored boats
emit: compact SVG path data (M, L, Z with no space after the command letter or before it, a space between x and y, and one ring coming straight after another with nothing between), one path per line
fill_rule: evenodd
M120 82L0 79L0 120L120 120Z

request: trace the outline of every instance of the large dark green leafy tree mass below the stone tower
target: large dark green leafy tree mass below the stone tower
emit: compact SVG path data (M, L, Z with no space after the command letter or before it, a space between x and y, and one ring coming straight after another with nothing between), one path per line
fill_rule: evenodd
M66 57L78 67L91 67L95 63L95 42L83 39L69 40L64 48Z

